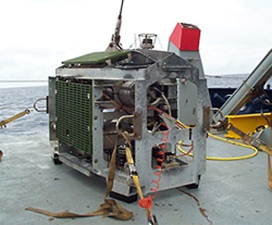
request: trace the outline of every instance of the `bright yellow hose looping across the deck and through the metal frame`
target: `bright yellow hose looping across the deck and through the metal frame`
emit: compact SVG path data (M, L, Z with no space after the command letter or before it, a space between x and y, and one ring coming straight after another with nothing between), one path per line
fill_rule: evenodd
M243 143L239 143L239 142L236 142L236 141L232 141L232 140L228 140L226 138L223 138L223 137L220 137L220 136L217 136L217 135L212 135L210 133L208 133L209 136L213 137L213 138L216 138L216 139L219 139L219 140L222 140L222 141L226 141L227 143L230 143L230 144L235 144L235 145L238 145L238 146L242 146L242 147L245 147L245 148L251 148L254 150L254 153L250 154L250 155L245 155L245 156L238 156L238 157L210 157L210 156L207 156L206 159L207 160L215 160L215 161L234 161L234 160L242 160L242 159L249 159L249 158L252 158L254 157L255 155L257 155L258 153L258 149L251 146L251 145L247 145L247 144L243 144ZM181 143L182 143L182 140L179 142L178 144L178 148L179 150L186 154L187 152L184 151L182 148L181 148ZM193 156L192 153L189 153L188 154L189 156Z

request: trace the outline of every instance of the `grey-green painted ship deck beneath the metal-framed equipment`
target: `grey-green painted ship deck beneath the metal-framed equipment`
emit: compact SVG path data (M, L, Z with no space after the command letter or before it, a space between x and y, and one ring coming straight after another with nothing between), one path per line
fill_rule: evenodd
M31 206L52 212L88 213L103 203L104 179L90 178L50 158L47 135L1 135L0 224L3 225L144 225L137 202L123 203L134 213L130 221L101 216L55 219L26 211ZM207 154L237 156L252 150L211 137ZM159 192L153 214L159 225L268 225L272 223L272 189L268 187L267 155L239 161L207 161L198 189L186 187Z

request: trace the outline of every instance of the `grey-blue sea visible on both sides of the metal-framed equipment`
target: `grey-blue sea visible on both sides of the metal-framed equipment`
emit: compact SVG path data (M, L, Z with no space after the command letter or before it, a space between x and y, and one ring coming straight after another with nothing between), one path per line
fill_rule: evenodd
M207 84L209 88L237 88L246 79L247 74L224 75L224 76L207 76ZM272 81L267 84L272 87ZM7 119L24 109L32 109L33 103L37 98L48 95L46 83L44 86L33 87L13 87L14 84L1 84L0 88L0 121ZM27 85L27 84L24 84ZM36 83L37 85L37 83ZM9 88L7 88L9 87ZM39 107L45 107L45 101L42 101ZM48 135L48 115L46 113L38 113L31 111L30 114L7 124L6 128L0 129L0 143L4 141L4 135L32 134Z

